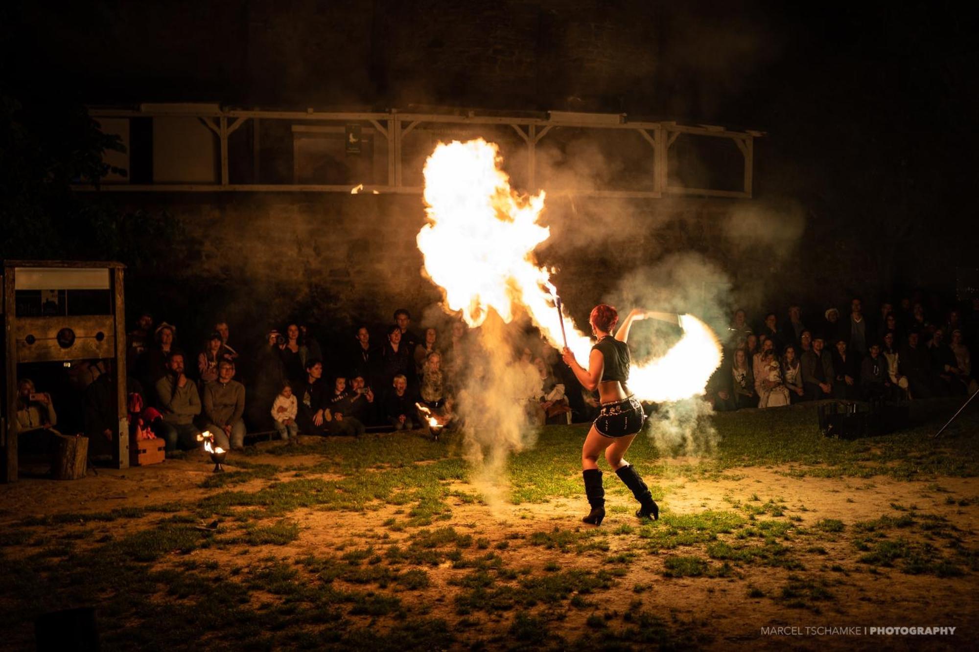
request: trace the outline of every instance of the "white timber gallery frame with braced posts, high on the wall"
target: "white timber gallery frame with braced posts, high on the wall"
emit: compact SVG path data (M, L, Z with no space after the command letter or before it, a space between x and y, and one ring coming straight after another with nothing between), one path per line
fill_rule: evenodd
M421 194L422 188L406 186L403 183L401 147L405 137L420 124L440 124L460 126L472 125L510 125L523 139L527 147L528 190L536 192L536 146L554 127L576 127L586 129L628 129L638 134L650 145L653 165L652 190L591 190L576 192L585 197L618 197L657 199L666 196L691 195L702 197L723 197L751 199L752 172L754 167L754 139L765 133L756 130L734 131L713 124L686 125L676 121L629 121L624 115L611 114L557 114L546 117L529 116L481 116L476 112L458 114L409 113L392 110L386 113L357 112L319 112L306 111L263 111L188 108L187 105L152 105L140 109L90 108L90 115L99 117L139 118L139 117L198 117L215 134L220 144L220 180L216 183L103 183L99 189L112 192L337 192L350 193L353 184L299 184L299 183L231 183L228 164L228 138L247 120L300 120L350 123L369 123L377 133L387 140L388 182L386 184L361 184L358 192L364 194ZM555 116L559 116L555 118ZM580 117L576 117L580 116ZM617 121L618 120L618 121ZM257 127L257 122L256 122ZM257 131L257 129L256 129ZM670 185L669 151L681 134L723 138L732 140L744 157L744 181L741 190L718 190L712 188L689 188ZM256 162L257 167L257 144ZM77 190L93 190L93 186L78 185ZM560 191L559 191L560 192Z

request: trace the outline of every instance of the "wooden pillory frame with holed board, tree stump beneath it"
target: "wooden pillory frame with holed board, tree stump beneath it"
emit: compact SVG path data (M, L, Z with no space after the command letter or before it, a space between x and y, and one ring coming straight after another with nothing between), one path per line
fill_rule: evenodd
M0 374L3 396L0 401L0 481L10 483L18 479L17 365L24 362L112 359L116 377L114 407L118 415L117 428L113 431L113 464L119 469L129 466L123 267L119 262L3 261L0 283L0 319L4 335L4 346L0 349L4 368L4 373ZM57 299L58 309L49 311L54 314L31 309L27 298L38 293L48 293ZM106 301L95 302L97 309L89 306L72 314L73 296L101 297L103 294ZM41 304L40 300L36 303ZM83 476L88 440L73 436L55 439L58 451L52 469L55 477Z

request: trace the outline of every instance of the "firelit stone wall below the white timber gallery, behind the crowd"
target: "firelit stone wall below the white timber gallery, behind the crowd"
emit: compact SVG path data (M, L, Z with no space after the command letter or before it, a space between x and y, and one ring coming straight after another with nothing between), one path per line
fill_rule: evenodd
M129 210L169 212L186 233L170 269L130 270L131 316L148 308L203 334L221 315L250 337L303 317L346 333L359 322L389 323L401 306L421 320L442 299L422 273L415 237L425 215L418 196L146 193L117 198ZM552 236L538 254L542 264L557 268L555 281L580 323L637 267L654 267L676 255L703 261L711 274L729 279L734 301L740 286L742 297L754 294L748 289L754 277L744 272L770 262L745 262L767 250L746 242L750 234L730 232L731 215L750 206L723 200L627 204L554 198L541 217ZM188 296L185 288L195 288L194 294Z

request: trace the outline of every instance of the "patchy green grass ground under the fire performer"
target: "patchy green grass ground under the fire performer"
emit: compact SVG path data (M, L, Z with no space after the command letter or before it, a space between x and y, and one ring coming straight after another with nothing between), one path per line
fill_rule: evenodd
M235 470L193 481L201 499L75 507L0 529L0 628L14 632L12 649L29 648L37 614L94 604L104 645L120 650L695 649L717 633L663 609L661 575L703 578L694 583L708 592L729 584L747 611L764 600L818 612L848 592L835 589L843 581L979 572L973 534L956 521L976 497L940 484L975 474L968 433L979 419L966 413L947 438L923 437L949 405L921 401L911 430L856 442L821 437L813 406L720 414L717 449L692 463L667 461L639 437L629 456L667 497L661 519L633 520L628 489L609 473L611 523L600 528L581 525L569 500L583 507L585 426L548 427L511 456L509 500L524 506L514 523L474 520L489 508L462 486L469 469L452 437L250 448ZM696 509L671 504L681 485L737 482L745 472L730 469L750 466L927 478L932 497L885 500L878 518L856 523L763 485L729 491L721 509L706 498Z

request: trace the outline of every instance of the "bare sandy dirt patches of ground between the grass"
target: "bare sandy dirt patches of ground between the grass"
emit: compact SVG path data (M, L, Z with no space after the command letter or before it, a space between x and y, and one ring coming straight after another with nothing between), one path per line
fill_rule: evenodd
M252 463L281 463L281 458L258 455L249 458ZM313 464L315 456L292 456L290 465ZM677 460L682 461L682 460ZM228 470L234 466L229 465ZM971 478L940 478L932 482L898 482L883 477L855 478L794 478L785 475L785 468L735 468L725 472L721 480L688 480L682 477L664 483L666 497L663 506L673 513L699 513L705 510L730 510L732 503L761 499L776 500L787 514L801 520L795 524L812 528L821 519L838 519L846 527L855 523L879 518L884 514L897 515L896 509L933 514L948 519L958 529L962 545L975 550L979 506L975 498L979 494L977 482ZM8 486L0 486L3 508L0 510L0 529L29 516L51 516L59 513L86 511L104 512L118 507L141 507L171 500L193 501L208 495L213 489L202 489L200 484L210 477L211 464L204 457L194 456L182 460L145 468L126 470L100 469L98 475L74 482L57 482L40 479L23 479ZM601 528L614 533L621 526L636 526L631 515L630 496L618 492L608 480L610 490L606 496L609 513ZM255 490L267 484L267 480L251 481L236 486L236 490ZM655 483L655 478L647 477ZM254 484L254 487L252 486ZM457 489L473 492L474 489L459 484ZM963 499L950 501L949 497ZM504 539L515 545L499 551L507 564L543 568L557 563L562 568L598 570L609 555L635 550L632 536L610 536L610 549L603 553L562 553L542 546L525 544L526 537L541 531L575 530L582 526L580 518L586 511L583 496L572 499L554 499L543 504L509 503L486 505L450 499L451 519L441 526L465 529L473 536L487 536L493 544ZM961 504L964 502L966 504ZM617 506L628 507L628 511ZM897 505L897 508L895 507ZM290 518L302 528L299 539L284 546L268 546L271 554L289 558L298 555L334 549L336 546L356 541L358 536L386 533L381 524L396 512L396 506L384 505L378 510L348 513L303 509L293 512ZM138 522L115 521L97 524L97 530L118 533L120 528L139 527ZM393 543L410 533L391 533L386 542ZM363 539L356 541L364 544ZM726 650L751 647L755 649L783 649L792 645L798 649L965 649L977 639L976 578L966 572L960 577L938 578L934 575L909 575L898 568L879 568L868 573L859 568L859 553L846 536L838 540L820 539L819 552L807 551L802 537L787 543L795 546L793 552L806 566L808 572L822 571L821 577L832 578L833 599L820 602L818 610L793 608L770 596L778 595L789 581L792 572L783 568L742 565L736 573L726 578L664 577L667 558L672 555L696 554L690 548L679 547L660 550L658 553L640 555L628 567L628 575L607 591L589 596L594 600L595 613L629 612L630 604L641 599L643 609L668 621L676 629L697 629L709 634L704 642L707 649ZM227 557L227 551L200 549L191 553L202 560ZM843 572L830 573L828 567L837 565ZM428 601L435 611L444 607L443 616L450 622L454 615L448 596L457 592L457 586L448 581L459 577L460 572L443 564L428 569L432 585L406 601ZM642 586L641 589L636 588ZM749 588L759 589L759 597L751 597ZM764 594L764 595L762 595ZM510 612L487 615L482 612L470 617L480 621L480 627L471 632L505 628L513 618ZM808 627L956 627L954 635L840 635L806 633ZM762 628L798 628L800 635L765 635ZM482 628L482 629L481 629ZM561 624L560 632L566 640L575 640L588 631L584 618L568 618ZM465 635L465 634L462 634ZM478 636L477 636L478 637Z

